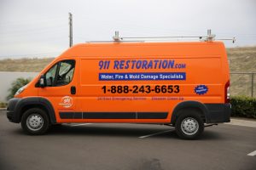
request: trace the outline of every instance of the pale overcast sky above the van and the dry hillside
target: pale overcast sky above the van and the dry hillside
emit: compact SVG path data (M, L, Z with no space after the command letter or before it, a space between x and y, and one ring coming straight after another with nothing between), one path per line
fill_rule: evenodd
M236 37L256 46L256 0L0 0L0 59L56 57L73 44L120 37ZM177 39L180 41L180 39ZM177 41L175 40L175 41Z

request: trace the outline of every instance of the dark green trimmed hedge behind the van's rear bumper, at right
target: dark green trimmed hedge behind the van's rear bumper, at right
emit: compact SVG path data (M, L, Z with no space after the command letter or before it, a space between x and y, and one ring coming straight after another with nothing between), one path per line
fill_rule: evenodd
M231 116L256 118L256 98L247 96L231 97Z

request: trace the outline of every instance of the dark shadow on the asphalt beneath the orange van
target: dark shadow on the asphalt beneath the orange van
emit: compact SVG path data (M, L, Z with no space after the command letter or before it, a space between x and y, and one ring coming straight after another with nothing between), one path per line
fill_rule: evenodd
M170 130L170 131L168 131ZM166 133L161 133L165 132ZM174 127L154 127L152 125L151 127L100 127L100 126L78 126L78 127L71 127L71 126L57 126L57 127L51 127L49 129L48 135L85 135L85 136L94 136L94 137L133 137L133 138L139 138L145 135L150 135L153 133L159 133L155 134L153 136L150 136L149 138L154 139L180 139L177 136L177 133L175 132ZM219 132L215 132L212 130L205 130L204 133L202 133L200 140L214 140L214 139L223 139L223 136Z

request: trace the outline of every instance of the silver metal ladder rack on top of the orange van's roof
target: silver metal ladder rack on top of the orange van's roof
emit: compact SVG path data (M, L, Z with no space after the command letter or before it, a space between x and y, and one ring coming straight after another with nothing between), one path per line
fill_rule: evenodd
M115 31L114 36L113 36L113 41L114 42L123 42L123 41L125 41L125 39L144 40L145 41L145 40L150 40L150 39L199 38L199 40L201 42L212 42L214 40L228 40L228 41L231 40L233 43L236 42L235 37L222 38L222 39L215 39L215 37L216 37L216 35L212 34L212 31L210 29L207 30L207 36L173 36L173 37L119 37L119 31ZM131 41L131 42L133 42L133 41Z

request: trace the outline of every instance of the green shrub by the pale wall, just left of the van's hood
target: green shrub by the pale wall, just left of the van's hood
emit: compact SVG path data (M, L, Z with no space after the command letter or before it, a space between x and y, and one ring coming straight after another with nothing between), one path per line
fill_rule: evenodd
M11 88L9 88L9 95L6 99L12 99L15 96L16 92L30 81L31 78L17 78L14 82L12 82Z

